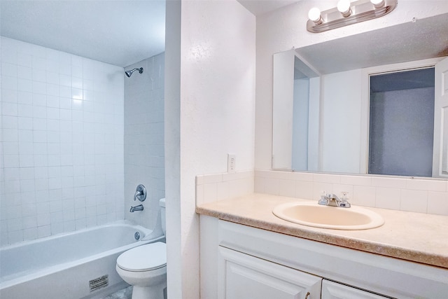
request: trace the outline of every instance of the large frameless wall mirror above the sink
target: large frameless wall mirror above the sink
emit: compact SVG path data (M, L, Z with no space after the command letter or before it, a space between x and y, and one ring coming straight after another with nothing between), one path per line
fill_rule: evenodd
M275 53L272 169L448 178L447 56L448 14ZM383 76L388 73L398 75ZM431 76L435 81L432 87ZM442 97L445 91L447 96ZM421 106L424 109L414 108L414 119L422 123L416 126L433 127L418 133L427 137L421 144L428 146L419 146L425 148L424 158L411 153L406 161L400 151L388 145L396 137L389 138L388 143L377 140L381 137L378 128L395 130L393 126L384 129L388 120L381 119L382 112L378 118L378 111L382 111L384 99L399 98L402 102L391 105L395 110L389 118L398 122L395 127L414 136L417 132L409 125L414 122L398 120L400 113L409 114L401 109L410 106L409 95L420 93L426 102ZM435 113L423 111L431 109ZM428 137L428 132L433 136ZM384 170L390 168L384 167L390 162L381 160L382 154L376 149L381 147L387 149L391 160L402 160L395 167L398 170ZM411 146L413 152L412 148L415 146ZM373 167L374 162L381 162L381 167Z

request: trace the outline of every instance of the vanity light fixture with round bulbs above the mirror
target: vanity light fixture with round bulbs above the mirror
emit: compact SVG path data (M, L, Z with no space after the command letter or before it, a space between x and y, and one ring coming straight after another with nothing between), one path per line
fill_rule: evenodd
M330 29L356 24L382 17L393 11L398 0L339 0L337 7L327 11L311 8L308 13L307 30L324 32Z

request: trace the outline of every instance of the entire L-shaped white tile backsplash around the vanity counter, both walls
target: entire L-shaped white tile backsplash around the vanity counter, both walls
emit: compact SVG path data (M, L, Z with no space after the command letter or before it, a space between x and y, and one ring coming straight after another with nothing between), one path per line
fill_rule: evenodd
M318 200L323 191L336 195L348 192L349 201L360 206L448 216L448 181L442 179L272 170L233 175L197 176L196 203L225 200L252 192L305 200Z

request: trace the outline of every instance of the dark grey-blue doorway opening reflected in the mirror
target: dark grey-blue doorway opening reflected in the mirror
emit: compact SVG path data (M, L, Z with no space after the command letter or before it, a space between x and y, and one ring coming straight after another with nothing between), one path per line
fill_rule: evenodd
M370 76L369 174L431 176L434 68Z

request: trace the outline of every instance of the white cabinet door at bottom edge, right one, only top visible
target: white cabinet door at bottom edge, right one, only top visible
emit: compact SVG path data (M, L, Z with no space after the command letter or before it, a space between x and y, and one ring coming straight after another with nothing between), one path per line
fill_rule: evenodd
M323 279L322 299L386 299L381 295Z

